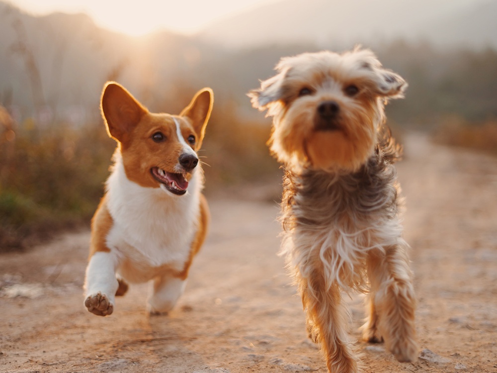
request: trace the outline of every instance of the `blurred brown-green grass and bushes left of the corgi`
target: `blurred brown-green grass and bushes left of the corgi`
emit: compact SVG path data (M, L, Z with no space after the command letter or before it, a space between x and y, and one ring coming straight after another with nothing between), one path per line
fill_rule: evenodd
M10 154L7 146L13 147ZM22 236L87 222L114 146L101 123L17 130L0 148L0 251L20 246Z

